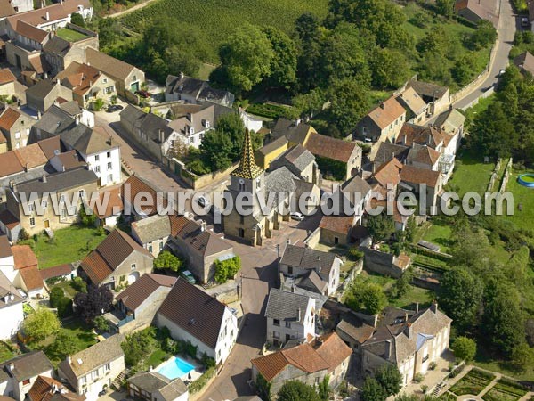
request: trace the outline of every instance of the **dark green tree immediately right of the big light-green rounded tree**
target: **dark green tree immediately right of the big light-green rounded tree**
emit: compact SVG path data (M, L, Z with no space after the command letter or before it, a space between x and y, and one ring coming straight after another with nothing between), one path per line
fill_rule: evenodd
M263 33L271 42L274 56L271 60L271 86L289 89L296 81L296 45L295 41L278 28L267 27Z

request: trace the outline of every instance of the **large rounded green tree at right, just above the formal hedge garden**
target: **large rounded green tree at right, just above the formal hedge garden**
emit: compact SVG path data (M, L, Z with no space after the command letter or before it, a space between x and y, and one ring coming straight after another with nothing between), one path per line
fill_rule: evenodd
M492 278L484 291L482 328L491 344L506 357L525 342L525 326L518 291L503 277Z

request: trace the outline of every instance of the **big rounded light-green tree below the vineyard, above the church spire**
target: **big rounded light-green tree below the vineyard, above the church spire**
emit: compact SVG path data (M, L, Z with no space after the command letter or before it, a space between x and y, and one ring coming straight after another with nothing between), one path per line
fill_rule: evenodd
M219 51L228 83L237 93L248 92L271 75L275 57L269 38L259 28L239 28Z

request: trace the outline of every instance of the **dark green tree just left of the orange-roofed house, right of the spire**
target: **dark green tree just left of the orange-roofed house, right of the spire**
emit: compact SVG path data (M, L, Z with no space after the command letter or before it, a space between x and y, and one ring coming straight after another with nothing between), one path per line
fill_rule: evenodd
M348 135L368 110L368 88L352 78L336 80L329 89L328 119Z

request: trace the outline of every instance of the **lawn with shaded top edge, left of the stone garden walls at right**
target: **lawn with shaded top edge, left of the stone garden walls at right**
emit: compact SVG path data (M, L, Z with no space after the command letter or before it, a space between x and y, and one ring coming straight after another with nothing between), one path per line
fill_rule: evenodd
M458 187L460 198L465 195L465 192L474 191L480 194L486 192L490 184L491 173L495 168L494 160L484 163L483 157L474 151L465 151L458 159L461 163L457 162L449 184Z

